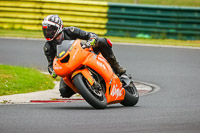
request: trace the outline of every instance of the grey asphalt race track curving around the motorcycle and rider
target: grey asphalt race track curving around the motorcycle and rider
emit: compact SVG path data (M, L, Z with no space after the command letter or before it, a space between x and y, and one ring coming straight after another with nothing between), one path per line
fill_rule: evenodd
M42 40L0 39L0 63L46 71ZM0 133L200 133L200 49L114 45L135 80L160 86L135 107L84 101L0 105Z

